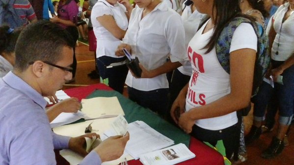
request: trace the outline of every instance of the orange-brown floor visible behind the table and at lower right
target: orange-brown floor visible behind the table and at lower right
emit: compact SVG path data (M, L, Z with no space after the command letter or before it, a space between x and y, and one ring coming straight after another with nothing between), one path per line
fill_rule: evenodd
M80 85L89 85L99 83L99 79L90 79L87 74L95 69L94 52L90 52L88 47L79 44L76 48L78 61L76 81L64 86L64 89L73 88ZM124 92L124 95L127 95ZM247 117L244 117L245 134L249 131L252 124L252 110ZM294 165L294 126L289 135L289 146L285 147L282 154L274 159L266 160L261 158L261 153L269 145L273 132L263 134L259 140L247 146L248 160L240 165Z

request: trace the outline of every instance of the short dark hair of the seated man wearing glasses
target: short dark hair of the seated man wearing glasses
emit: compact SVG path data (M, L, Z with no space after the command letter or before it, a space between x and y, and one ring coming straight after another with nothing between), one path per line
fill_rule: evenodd
M21 32L15 47L15 69L25 71L30 62L37 60L56 63L63 47L74 47L71 35L49 21L29 24Z

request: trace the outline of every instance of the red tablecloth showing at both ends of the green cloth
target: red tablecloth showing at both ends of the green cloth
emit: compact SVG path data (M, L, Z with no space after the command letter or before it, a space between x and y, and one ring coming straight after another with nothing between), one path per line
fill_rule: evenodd
M79 100L86 98L95 90L112 90L104 84L94 84L84 87L72 88L64 92L71 97L77 97ZM213 148L207 146L195 138L190 138L189 149L196 155L195 158L182 162L178 165L224 165L223 157ZM129 165L142 165L139 160L128 162Z

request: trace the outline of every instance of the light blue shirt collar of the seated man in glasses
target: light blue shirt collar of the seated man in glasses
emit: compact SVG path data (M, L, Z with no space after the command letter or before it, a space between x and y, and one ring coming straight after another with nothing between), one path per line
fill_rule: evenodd
M15 75L12 71L9 71L3 77L3 81L11 88L26 94L35 103L45 109L47 101L43 98L43 96L36 90L34 90L30 85L28 85L23 79Z

